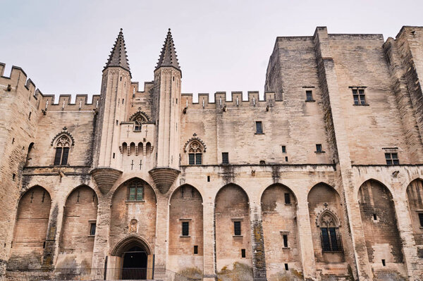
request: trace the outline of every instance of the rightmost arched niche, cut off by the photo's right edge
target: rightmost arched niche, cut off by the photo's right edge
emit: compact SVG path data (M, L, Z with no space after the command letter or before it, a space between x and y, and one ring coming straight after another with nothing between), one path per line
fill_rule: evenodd
M416 179L407 187L412 230L417 245L423 245L423 180Z

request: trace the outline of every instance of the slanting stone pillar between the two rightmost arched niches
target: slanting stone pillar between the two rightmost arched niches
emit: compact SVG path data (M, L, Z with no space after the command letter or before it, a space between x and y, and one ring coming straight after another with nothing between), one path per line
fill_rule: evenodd
M400 186L398 186L398 189L400 189ZM419 276L423 276L423 265L419 262L419 258L417 257L417 248L410 219L410 209L408 208L407 200L402 198L394 199L394 204L408 278L410 281L418 281Z

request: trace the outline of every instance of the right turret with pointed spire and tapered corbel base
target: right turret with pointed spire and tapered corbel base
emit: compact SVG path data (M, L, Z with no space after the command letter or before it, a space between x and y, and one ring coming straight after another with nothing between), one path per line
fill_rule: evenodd
M167 192L179 174L181 77L169 29L154 70L153 114L158 123L157 158L156 168L150 174L161 192Z

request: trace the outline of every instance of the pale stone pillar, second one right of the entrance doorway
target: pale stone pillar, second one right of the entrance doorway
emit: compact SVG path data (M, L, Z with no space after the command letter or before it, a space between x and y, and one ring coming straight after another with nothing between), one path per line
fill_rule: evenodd
M217 275L214 201L206 197L203 200L203 280L215 281L217 280Z

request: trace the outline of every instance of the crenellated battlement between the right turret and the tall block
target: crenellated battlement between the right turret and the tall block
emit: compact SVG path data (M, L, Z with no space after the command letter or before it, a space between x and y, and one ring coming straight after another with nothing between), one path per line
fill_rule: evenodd
M248 91L247 99L243 99L243 92L231 92L231 99L226 99L226 92L214 93L214 101L210 100L210 94L199 93L198 102L194 102L192 94L181 94L182 106L195 109L213 109L223 107L255 107L255 106L274 106L275 93L265 92L264 99L260 99L259 91Z

